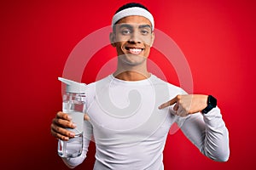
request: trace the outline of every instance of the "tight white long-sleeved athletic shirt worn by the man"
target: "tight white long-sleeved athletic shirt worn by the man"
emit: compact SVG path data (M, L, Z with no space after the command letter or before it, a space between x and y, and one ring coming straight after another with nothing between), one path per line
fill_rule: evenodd
M84 121L84 147L77 158L63 158L77 166L86 157L90 140L96 143L94 170L164 169L163 150L170 127L175 122L185 136L215 161L229 157L229 133L218 107L206 115L176 116L172 106L158 106L186 94L151 75L142 81L122 81L113 75L88 85Z

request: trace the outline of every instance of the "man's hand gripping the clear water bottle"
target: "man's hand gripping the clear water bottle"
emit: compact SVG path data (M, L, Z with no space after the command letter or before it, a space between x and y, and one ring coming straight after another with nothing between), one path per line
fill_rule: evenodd
M76 125L72 122L71 117L67 113L59 111L50 125L50 132L56 139L67 141L73 138L75 133L68 131L66 128L75 128Z

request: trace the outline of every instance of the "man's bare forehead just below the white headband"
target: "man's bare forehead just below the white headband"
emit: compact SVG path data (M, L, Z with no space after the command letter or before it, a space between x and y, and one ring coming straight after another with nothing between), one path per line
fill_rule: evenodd
M147 18L143 17L143 16L127 16L121 20L118 21L117 23L118 25L120 24L129 24L129 25L149 25L150 27L152 27L150 20L148 20Z

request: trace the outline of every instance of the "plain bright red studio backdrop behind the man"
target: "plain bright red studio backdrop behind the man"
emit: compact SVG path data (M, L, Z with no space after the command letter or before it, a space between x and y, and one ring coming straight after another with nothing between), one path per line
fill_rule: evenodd
M130 1L1 1L1 169L65 169L57 156L50 123L61 111L62 71L75 45L109 26L113 13ZM180 131L169 135L166 169L255 169L255 1L137 1L154 14L155 25L177 42L188 59L195 94L218 98L230 130L230 160L209 160ZM86 66L83 81L113 58L102 48ZM152 50L150 59L160 56ZM164 58L163 60L164 61ZM178 85L172 65L159 62ZM77 169L92 169L95 147Z

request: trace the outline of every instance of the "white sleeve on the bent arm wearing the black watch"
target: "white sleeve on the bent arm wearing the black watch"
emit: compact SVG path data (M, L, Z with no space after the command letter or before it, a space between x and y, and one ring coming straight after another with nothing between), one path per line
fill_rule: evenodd
M218 107L204 115L195 113L177 120L185 136L202 154L214 161L228 161L229 132Z

